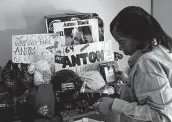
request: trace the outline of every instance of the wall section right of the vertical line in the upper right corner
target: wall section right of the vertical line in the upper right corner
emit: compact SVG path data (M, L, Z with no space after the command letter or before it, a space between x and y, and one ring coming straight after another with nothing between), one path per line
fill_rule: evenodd
M172 36L172 0L153 0L153 16L162 28Z

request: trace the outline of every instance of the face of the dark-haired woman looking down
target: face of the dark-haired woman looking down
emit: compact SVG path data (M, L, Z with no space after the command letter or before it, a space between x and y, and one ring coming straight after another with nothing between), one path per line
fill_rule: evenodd
M132 55L137 50L138 42L131 36L126 36L115 31L112 32L112 36L119 44L119 50L123 51L125 55Z

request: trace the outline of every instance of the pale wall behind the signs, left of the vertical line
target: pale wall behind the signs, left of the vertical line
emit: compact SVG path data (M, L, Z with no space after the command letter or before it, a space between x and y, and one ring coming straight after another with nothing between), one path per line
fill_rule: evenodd
M160 0L159 0L160 1ZM114 40L109 24L122 8L138 5L150 12L150 0L1 0L0 4L0 65L11 59L11 36L46 33L44 16L68 12L95 12L105 23L105 40ZM118 45L113 41L114 51ZM120 63L125 69L127 57Z

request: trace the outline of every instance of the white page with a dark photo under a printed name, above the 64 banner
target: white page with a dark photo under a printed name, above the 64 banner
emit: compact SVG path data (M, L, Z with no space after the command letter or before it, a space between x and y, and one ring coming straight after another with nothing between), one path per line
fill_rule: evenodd
M53 28L63 36L65 46L99 41L98 19L56 22Z

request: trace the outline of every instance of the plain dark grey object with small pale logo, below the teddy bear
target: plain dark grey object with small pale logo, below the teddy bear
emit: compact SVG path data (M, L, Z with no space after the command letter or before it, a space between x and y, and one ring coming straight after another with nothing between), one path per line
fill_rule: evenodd
M60 112L55 116L55 96L52 84L41 84L31 90L29 105L34 122L62 122Z

